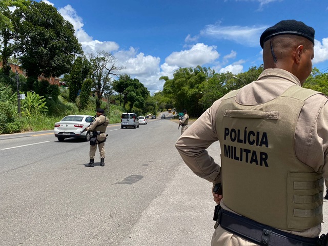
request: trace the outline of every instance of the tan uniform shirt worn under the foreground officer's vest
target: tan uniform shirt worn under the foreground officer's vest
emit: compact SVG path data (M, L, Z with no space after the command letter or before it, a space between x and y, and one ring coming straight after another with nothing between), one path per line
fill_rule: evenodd
M240 90L236 100L241 104L264 103L295 84L300 86L300 81L293 74L282 69L266 69L256 81ZM328 178L328 165L325 165L328 162L328 104L325 101L326 97L323 95L314 95L305 101L296 124L295 153L300 161ZM199 177L213 183L221 182L220 167L204 149L218 141L215 121L220 103L221 99L215 101L176 142L176 148L188 167ZM314 111L318 104L323 105L322 109ZM222 208L229 210L224 205L224 197L220 204ZM292 233L316 237L320 231L321 224Z

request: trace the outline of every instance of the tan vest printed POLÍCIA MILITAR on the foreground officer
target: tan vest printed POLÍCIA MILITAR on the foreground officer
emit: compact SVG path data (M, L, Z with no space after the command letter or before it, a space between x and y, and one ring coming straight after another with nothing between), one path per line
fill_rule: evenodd
M217 114L224 203L281 230L322 221L323 178L297 159L296 122L304 101L318 92L292 86L259 105L240 105L228 93Z

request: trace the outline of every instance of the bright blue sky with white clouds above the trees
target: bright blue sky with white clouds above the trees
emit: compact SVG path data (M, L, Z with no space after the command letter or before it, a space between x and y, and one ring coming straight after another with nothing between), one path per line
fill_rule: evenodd
M45 0L74 28L85 53L111 52L121 73L151 93L179 67L234 74L262 64L261 33L282 19L315 30L313 66L328 72L326 0Z

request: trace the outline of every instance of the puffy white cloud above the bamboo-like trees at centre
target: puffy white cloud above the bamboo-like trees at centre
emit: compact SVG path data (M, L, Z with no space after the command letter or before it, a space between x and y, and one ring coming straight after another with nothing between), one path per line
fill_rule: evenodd
M195 67L212 63L219 56L220 54L216 51L216 46L198 43L189 50L173 52L165 61L169 66Z

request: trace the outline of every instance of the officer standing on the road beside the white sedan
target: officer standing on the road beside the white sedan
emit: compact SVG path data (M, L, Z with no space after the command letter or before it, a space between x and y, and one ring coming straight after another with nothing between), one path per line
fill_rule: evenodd
M106 141L106 128L109 124L109 119L104 115L104 109L97 109L96 118L91 126L87 127L87 131L92 132L90 139L90 162L87 167L94 167L94 156L97 150L97 145L100 153L100 166L105 166L105 141Z

